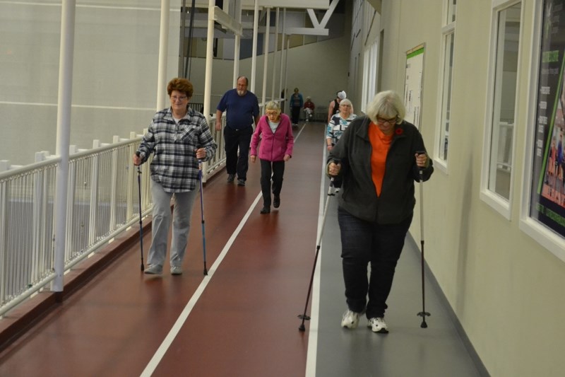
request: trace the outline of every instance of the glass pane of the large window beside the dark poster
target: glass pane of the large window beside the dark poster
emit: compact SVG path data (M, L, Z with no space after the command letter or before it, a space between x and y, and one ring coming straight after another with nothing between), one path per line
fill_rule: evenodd
M488 188L510 199L521 4L499 12Z

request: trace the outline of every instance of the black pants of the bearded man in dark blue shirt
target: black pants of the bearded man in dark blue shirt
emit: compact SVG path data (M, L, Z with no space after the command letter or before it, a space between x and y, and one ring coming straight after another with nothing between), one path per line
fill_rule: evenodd
M243 129L234 129L232 127L224 127L225 142L225 169L227 174L237 173L237 179L247 179L247 169L249 168L249 144L251 144L251 135L253 127L249 126ZM239 158L237 156L239 149Z

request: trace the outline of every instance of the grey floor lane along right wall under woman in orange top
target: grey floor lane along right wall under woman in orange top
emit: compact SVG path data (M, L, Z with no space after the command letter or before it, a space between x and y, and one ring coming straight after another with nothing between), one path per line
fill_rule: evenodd
M418 240L418 244L420 240ZM426 250L426 253L433 251ZM465 348L451 320L444 296L426 277L428 327L421 328L420 250L407 239L388 298L390 332L375 334L367 319L355 330L340 328L346 309L340 259L337 199L332 199L323 231L320 256L320 306L316 376L481 376L473 354ZM435 283L435 282L434 282ZM479 361L480 362L480 361Z

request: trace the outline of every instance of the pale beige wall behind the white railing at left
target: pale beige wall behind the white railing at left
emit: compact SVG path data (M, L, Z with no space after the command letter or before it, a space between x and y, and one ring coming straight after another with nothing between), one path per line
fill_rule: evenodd
M157 103L160 2L78 2L71 144L91 148L148 127ZM177 76L179 4L170 1L169 66ZM55 152L61 5L0 3L0 159L25 165Z

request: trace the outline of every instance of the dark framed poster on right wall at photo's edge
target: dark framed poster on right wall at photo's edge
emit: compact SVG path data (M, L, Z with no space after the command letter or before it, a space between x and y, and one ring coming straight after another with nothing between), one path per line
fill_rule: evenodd
M565 237L565 0L545 0L530 216Z

